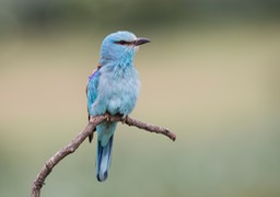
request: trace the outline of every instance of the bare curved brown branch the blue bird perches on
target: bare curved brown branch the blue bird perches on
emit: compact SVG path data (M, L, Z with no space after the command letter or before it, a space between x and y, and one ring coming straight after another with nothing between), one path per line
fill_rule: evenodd
M40 188L45 184L44 182L46 177L49 175L49 173L56 166L56 164L58 164L68 154L73 153L79 148L79 146L85 140L85 138L94 132L96 126L106 119L109 121L121 121L124 124L127 124L128 126L135 126L150 132L162 134L168 137L170 139L172 139L173 141L175 141L176 139L175 134L171 132L168 129L145 124L137 119L130 118L128 116L125 119L122 118L122 116L119 116L119 115L116 115L116 116L103 115L103 116L91 117L88 126L74 139L72 139L68 146L60 149L43 166L36 179L33 182L31 197L39 197Z

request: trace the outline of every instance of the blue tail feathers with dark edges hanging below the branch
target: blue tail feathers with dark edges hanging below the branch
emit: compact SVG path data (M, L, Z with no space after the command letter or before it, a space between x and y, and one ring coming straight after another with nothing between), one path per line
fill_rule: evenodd
M108 176L108 170L112 160L112 147L114 135L110 136L108 142L103 146L102 141L97 140L97 157L96 157L96 177L100 182L104 182Z

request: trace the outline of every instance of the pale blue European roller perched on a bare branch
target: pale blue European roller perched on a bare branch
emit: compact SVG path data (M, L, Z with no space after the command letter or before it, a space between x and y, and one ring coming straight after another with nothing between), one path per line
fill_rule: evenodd
M86 88L90 116L128 116L136 106L140 91L133 57L139 45L150 43L130 32L109 34L102 43L97 69L90 76ZM108 176L112 146L117 123L103 121L96 127L96 177L103 182ZM93 136L90 136L90 142Z

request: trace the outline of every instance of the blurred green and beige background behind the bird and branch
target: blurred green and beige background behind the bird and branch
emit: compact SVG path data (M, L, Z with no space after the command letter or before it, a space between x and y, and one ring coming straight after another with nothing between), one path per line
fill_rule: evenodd
M85 141L42 196L280 196L280 2L1 0L0 196L28 196L37 173L86 125L85 84L103 38L149 37L135 65L132 117L119 124L109 178Z

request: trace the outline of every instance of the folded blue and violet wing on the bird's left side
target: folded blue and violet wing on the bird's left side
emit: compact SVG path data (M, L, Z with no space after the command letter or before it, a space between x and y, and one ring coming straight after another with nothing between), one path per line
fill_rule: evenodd
M95 69L92 72L92 74L89 77L89 82L88 82L86 90L85 90L86 97L88 97L89 120L91 118L91 115L93 114L92 105L95 102L97 94L98 94L97 89L98 89L98 82L100 82L100 76L101 76L100 68L101 68L101 65L98 65L97 69ZM90 135L89 139L91 142L93 139L93 135Z

